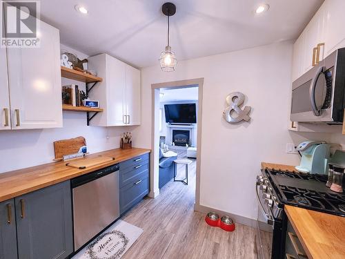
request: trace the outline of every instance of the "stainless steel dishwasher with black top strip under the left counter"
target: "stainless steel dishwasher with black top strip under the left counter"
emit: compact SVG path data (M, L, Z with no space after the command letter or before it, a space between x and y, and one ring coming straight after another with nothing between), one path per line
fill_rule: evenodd
M119 218L119 164L71 180L75 251Z

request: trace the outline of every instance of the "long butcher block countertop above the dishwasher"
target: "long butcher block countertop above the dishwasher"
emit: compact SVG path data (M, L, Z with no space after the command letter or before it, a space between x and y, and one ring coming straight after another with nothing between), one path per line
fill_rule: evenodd
M112 164L117 164L138 155L144 155L145 153L150 153L150 149L132 148L124 150L117 148L87 155L87 157L97 157L97 155L115 157L115 160L112 160L111 162L92 166L88 169L75 169L70 166L66 166L65 161L42 164L39 166L32 166L27 169L1 173L0 202L23 195L25 193L30 193L31 191L42 189L52 184L70 180L79 175L84 175L97 169L111 166Z

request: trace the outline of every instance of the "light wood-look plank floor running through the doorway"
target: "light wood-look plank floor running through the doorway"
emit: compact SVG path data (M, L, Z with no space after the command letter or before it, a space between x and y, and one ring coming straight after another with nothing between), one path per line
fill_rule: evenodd
M188 186L170 181L157 198L146 198L121 218L144 229L122 258L257 258L255 229L236 224L235 231L226 232L208 226L205 215L194 211L195 160L189 166ZM184 166L178 175L184 176Z

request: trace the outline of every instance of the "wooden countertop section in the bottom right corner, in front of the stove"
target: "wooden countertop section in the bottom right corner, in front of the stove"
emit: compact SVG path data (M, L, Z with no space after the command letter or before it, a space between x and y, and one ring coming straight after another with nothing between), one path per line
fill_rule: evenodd
M284 207L309 259L345 258L345 218L298 207Z

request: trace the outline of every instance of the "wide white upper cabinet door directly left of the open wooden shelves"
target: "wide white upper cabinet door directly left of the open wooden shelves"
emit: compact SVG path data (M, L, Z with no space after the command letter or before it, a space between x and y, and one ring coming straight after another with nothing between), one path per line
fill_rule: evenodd
M37 22L39 48L8 48L12 129L62 127L59 30Z

